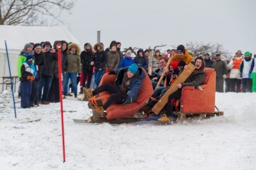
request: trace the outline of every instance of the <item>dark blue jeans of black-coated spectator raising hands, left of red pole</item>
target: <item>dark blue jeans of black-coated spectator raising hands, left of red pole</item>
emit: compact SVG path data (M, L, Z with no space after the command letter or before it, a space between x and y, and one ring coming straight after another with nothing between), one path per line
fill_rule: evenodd
M38 90L37 90L38 102L45 102L47 100L51 84L52 84L52 77L48 75L42 75L42 78L38 82ZM42 93L42 87L44 87L43 93Z

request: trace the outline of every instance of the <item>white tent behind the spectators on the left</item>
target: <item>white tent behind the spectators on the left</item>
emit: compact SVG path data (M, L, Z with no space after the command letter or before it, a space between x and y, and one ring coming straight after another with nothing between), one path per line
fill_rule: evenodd
M5 41L8 48L10 70L12 76L15 76L17 75L17 57L25 44L49 41L53 45L56 40L79 44L79 41L65 27L0 26L0 77L9 76ZM2 79L0 81L2 82ZM2 86L0 86L1 91Z

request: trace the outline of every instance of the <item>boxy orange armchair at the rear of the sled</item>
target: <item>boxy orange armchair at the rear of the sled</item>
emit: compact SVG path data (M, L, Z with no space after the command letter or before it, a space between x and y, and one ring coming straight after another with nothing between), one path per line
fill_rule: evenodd
M204 71L202 90L191 86L182 88L182 97L180 97L182 113L214 113L216 72L214 68L204 68Z

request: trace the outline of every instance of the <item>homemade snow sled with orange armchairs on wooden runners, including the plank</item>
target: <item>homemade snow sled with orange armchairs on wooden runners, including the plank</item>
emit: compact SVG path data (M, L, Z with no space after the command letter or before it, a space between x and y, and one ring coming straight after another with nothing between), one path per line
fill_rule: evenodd
M177 90L176 85L184 82L187 77L193 72L194 65L189 64L189 70L184 70L182 74L173 82L172 86L168 91L161 97L157 104L152 108L155 114L164 113L163 107L168 101L168 96L170 93ZM179 107L175 111L177 115L176 122L182 122L184 120L194 120L194 119L204 119L211 118L214 116L223 115L223 111L215 111L215 82L216 82L216 72L213 68L205 68L205 80L200 88L194 88L191 86L186 86L182 88L182 96L176 103L179 103ZM115 75L104 74L102 77L101 84L105 82L113 83L115 80ZM88 120L74 120L74 122L83 123L102 123L109 122L111 124L122 124L145 120L145 115L139 111L139 107L142 107L145 102L152 95L152 85L148 79L143 79L143 88L141 88L140 94L143 93L145 96L141 98L138 97L138 101L134 102L134 106L130 104L112 104L110 109L106 110L103 115L94 114L95 106L93 103L88 102L88 107L93 111L93 116L89 117ZM85 95L85 94L84 94ZM104 96L106 93L100 93L99 96ZM165 97L166 98L165 98ZM97 96L98 97L98 96ZM97 98L96 97L96 98ZM105 99L96 100L97 106L102 106ZM103 102L102 102L103 101ZM138 103L140 101L140 103ZM136 109L134 109L136 107ZM132 111L130 113L130 111Z

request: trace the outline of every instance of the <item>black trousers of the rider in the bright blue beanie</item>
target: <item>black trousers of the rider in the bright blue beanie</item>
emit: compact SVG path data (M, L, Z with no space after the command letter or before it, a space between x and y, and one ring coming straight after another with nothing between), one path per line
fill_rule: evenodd
M104 110L106 110L106 108L108 108L113 102L124 103L127 99L126 94L123 94L120 91L118 86L110 84L108 82L99 86L98 88L96 88L93 91L93 95L95 96L98 93L101 93L104 91L111 93L111 96L108 98L108 100L106 101L106 103L103 106Z

